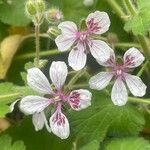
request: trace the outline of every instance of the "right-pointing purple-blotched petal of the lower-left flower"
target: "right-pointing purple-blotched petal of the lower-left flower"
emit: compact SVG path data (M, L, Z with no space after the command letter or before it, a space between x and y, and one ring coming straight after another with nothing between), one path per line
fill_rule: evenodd
M69 104L74 110L82 110L91 105L92 93L88 90L74 90L70 93Z

